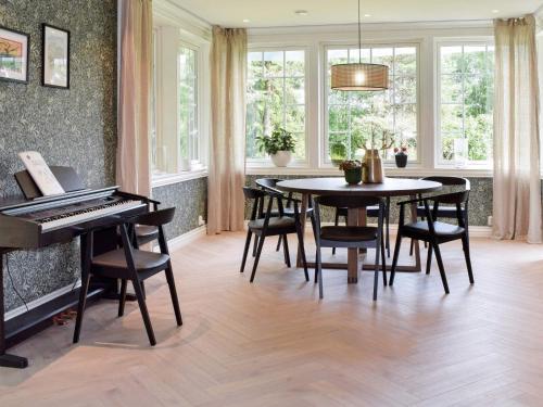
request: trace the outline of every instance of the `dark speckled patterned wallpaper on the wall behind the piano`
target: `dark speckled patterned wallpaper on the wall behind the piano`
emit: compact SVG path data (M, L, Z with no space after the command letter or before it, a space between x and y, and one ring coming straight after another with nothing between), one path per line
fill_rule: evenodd
M40 85L41 23L72 34L70 90ZM13 174L23 169L16 153L24 150L73 166L89 187L114 183L116 0L1 1L0 25L30 36L29 84L0 81L0 196L20 193ZM79 276L77 246L10 254L7 310L22 305L13 285L29 302L71 284Z

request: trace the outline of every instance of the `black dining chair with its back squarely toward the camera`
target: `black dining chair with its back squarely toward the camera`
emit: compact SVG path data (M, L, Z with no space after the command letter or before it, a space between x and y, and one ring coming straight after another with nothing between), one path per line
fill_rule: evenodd
M377 206L377 227L370 226L321 226L320 206L331 206L336 208L367 208ZM387 285L387 263L383 242L383 221L386 204L380 198L365 196L336 196L323 195L314 199L315 208L315 242L317 244L316 254L316 277L318 278L319 296L323 298L323 247L346 247L346 249L376 249L375 275L374 275L374 301L377 300L377 285L379 282L379 254L382 260L382 279Z

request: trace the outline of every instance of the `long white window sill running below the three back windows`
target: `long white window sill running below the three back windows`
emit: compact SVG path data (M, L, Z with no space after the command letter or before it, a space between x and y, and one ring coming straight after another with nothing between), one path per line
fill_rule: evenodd
M492 178L492 169L479 168L424 168L413 164L406 168L384 166L384 174L391 177L428 177L428 176L456 176L473 178ZM247 167L245 175L314 175L340 177L341 171L334 167Z

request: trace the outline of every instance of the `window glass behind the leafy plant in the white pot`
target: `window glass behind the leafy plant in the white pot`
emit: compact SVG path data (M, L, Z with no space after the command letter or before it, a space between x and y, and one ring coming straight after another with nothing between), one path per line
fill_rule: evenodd
M305 51L251 51L248 64L248 158L264 158L256 137L268 136L275 127L282 127L295 136L296 161L305 161Z

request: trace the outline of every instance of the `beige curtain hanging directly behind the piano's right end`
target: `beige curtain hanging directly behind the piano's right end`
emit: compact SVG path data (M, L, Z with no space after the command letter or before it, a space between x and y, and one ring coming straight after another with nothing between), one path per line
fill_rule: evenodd
M121 68L116 178L123 191L149 195L151 0L121 0Z

